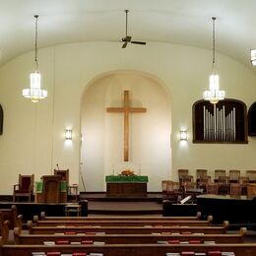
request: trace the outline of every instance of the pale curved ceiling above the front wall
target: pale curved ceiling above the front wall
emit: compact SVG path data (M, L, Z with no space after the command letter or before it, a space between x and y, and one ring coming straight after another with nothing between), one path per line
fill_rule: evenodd
M134 40L171 42L216 50L249 66L256 47L256 0L0 0L0 65L34 47L80 41ZM121 47L121 43L120 43ZM138 45L138 47L147 47ZM124 49L127 50L127 49Z

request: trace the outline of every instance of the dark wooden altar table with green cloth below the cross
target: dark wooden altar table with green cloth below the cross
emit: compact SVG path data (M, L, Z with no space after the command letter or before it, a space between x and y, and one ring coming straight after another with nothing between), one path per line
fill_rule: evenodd
M108 197L147 197L148 176L105 176Z

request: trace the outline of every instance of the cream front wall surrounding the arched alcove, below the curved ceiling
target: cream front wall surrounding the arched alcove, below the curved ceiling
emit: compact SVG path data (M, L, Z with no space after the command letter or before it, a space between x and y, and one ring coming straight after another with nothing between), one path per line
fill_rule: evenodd
M32 52L0 68L0 103L4 108L4 134L0 136L0 194L12 194L18 173L34 173L38 179L52 172L56 163L70 168L71 183L78 182L80 167L80 113L84 92L100 74L137 70L162 81L171 95L172 168L213 170L256 169L255 138L248 145L192 144L192 104L208 89L211 51L148 43L121 49L115 42L63 44L39 50L42 85L48 98L33 104L21 96L29 86ZM247 106L256 98L254 73L236 61L217 54L221 89L226 96L243 100ZM74 130L72 145L63 139L64 129ZM189 140L181 145L177 135L186 127ZM156 170L157 172L158 170ZM157 186L160 184L157 184Z

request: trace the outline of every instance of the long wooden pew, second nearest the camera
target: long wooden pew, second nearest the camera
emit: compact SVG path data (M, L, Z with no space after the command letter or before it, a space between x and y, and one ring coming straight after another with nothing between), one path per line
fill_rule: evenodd
M142 244L163 243L170 241L190 241L190 243L204 243L215 241L216 243L243 243L246 228L242 227L237 234L23 234L21 228L14 229L15 244L43 244L46 241L55 243L65 242L104 242L106 244ZM61 242L62 241L62 242Z

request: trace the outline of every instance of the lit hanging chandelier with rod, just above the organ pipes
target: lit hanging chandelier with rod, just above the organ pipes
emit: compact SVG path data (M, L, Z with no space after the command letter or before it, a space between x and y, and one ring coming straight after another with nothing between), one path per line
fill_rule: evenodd
M209 100L211 103L216 104L219 100L224 99L225 92L219 90L219 75L215 71L215 21L216 17L212 17L213 20L213 73L210 76L210 90L205 91L203 97L205 100Z

